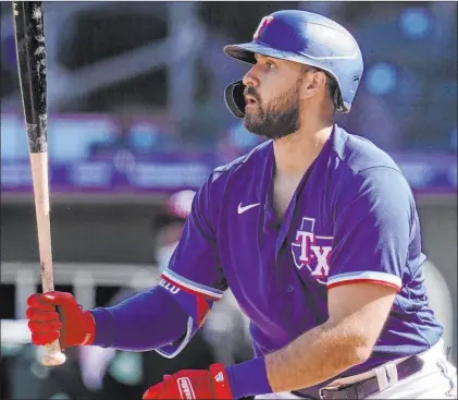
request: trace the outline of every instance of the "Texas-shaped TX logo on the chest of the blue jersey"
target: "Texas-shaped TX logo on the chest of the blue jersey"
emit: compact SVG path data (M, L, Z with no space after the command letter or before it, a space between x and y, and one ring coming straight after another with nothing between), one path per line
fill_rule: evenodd
M292 243L292 254L297 269L307 267L312 278L326 284L334 238L315 234L314 222L314 218L302 217L300 229Z

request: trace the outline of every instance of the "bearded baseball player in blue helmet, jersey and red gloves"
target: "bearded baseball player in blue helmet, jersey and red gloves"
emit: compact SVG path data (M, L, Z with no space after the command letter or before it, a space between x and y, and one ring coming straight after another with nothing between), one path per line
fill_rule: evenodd
M33 294L34 343L172 357L230 287L255 357L166 375L144 399L456 399L408 182L334 123L361 80L356 40L321 15L278 11L224 50L250 64L228 108L269 141L210 174L157 288L91 311Z

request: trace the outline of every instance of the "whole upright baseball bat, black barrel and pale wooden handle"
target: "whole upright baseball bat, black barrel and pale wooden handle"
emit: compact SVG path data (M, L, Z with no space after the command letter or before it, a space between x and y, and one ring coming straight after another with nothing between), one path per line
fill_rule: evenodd
M44 8L41 1L13 1L21 96L28 140L42 291L54 290L48 182L48 116ZM44 365L65 362L59 340L45 347Z

